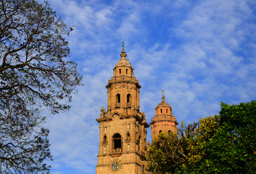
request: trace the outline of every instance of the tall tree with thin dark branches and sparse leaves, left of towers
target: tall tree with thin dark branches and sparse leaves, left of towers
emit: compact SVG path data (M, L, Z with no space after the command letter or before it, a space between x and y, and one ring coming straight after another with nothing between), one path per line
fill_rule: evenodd
M41 111L68 111L82 80L77 65L65 61L68 34L47 2L0 0L0 173L49 172Z

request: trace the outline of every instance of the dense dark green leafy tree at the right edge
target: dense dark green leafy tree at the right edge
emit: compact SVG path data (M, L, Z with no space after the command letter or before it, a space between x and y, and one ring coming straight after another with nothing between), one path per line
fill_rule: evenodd
M221 103L220 125L223 127L222 133L228 132L225 143L231 143L230 150L223 149L226 166L230 166L230 161L234 162L232 169L238 173L255 173L256 171L256 101L232 105ZM224 135L227 135L224 134ZM225 138L225 137L223 137ZM225 146L228 148L227 146ZM220 147L219 147L220 148ZM228 156L225 154L233 152Z

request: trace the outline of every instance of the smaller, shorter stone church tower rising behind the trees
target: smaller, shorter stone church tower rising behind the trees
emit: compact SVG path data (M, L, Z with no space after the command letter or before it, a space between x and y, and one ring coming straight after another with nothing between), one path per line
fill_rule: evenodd
M164 89L162 89L162 102L156 107L156 115L151 119L152 142L160 132L177 133L177 119L172 114L172 107L164 101Z

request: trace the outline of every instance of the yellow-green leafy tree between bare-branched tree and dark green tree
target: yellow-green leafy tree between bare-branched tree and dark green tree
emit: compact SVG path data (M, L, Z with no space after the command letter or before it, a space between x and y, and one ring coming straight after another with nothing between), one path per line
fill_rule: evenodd
M212 154L212 139L216 134L219 125L219 115L209 116L199 119L198 127L194 130L193 137L187 140L187 159L182 166L182 173L214 173L216 168L211 166L212 160L209 156ZM210 151L206 151L210 149Z

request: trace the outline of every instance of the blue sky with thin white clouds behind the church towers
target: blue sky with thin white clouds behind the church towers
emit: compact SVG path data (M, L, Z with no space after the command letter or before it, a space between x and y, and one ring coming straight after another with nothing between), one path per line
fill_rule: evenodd
M42 2L42 0L40 0ZM48 0L74 31L67 60L84 86L69 112L49 115L52 174L95 174L102 106L122 41L147 122L162 88L178 123L256 99L255 0ZM147 140L151 142L151 129Z

